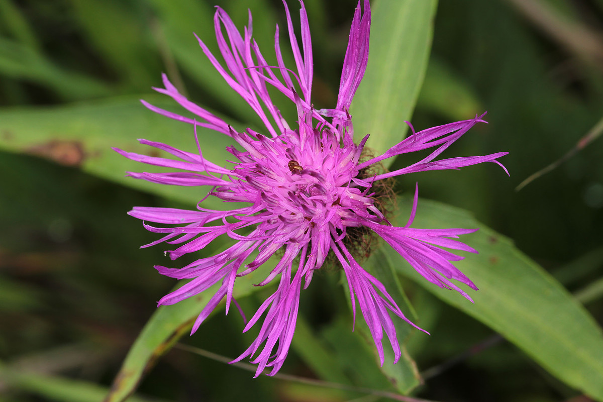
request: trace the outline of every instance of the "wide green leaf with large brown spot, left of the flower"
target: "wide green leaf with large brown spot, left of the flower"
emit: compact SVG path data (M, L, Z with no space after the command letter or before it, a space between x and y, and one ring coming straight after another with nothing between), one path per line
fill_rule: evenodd
M183 113L166 96L144 95L143 98L158 107ZM197 132L204 157L216 163L227 159L226 146L232 145L230 137L201 127ZM63 107L0 110L0 148L47 157L107 180L191 205L207 194L210 187L165 186L125 177L126 171L166 171L133 162L111 149L115 146L125 151L160 154L155 148L140 145L137 138L198 152L191 125L157 115L138 99L124 97ZM210 197L206 206L220 209L223 203Z

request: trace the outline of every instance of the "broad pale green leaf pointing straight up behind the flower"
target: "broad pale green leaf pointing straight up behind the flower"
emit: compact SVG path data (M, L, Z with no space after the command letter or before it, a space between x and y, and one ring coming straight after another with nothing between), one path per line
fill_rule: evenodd
M429 57L437 0L374 3L367 72L352 102L356 137L377 154L400 142ZM389 161L390 163L392 161Z

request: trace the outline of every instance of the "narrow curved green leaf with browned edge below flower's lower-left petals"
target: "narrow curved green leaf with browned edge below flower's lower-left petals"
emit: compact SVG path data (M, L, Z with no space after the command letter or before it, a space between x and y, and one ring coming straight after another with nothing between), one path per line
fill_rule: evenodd
M268 275L268 267L274 267L275 264L276 260L272 258L251 274L237 278L233 298L239 299L264 289L262 286L253 286L253 284L262 281ZM157 309L130 348L104 402L125 401L136 390L142 377L154 366L157 359L191 330L195 319L220 284L216 283L194 297L189 297L171 306L160 306ZM213 310L212 315L221 308L220 306ZM235 311L232 312L232 310ZM234 305L231 306L231 312L238 314Z

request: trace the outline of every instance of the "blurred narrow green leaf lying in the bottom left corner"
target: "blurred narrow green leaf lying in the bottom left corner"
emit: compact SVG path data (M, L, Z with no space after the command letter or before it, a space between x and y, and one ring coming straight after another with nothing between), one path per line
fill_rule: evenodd
M58 402L98 402L109 391L93 383L72 380L57 375L42 375L20 372L18 369L0 363L0 379L14 388L40 395L44 400ZM128 402L149 401L140 397L128 398ZM157 399L153 401L159 402Z

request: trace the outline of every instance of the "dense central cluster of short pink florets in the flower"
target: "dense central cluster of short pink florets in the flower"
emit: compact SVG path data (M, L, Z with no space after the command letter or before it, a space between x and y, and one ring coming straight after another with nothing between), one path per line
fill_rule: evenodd
M363 146L340 137L328 128L305 124L276 138L252 130L236 133L233 138L244 151L229 148L238 159L232 184L213 195L253 204L254 213L242 219L256 223L267 236L279 237L275 242L316 240L327 253L332 237L365 253L372 233L365 222L385 220L377 206L391 187L385 189L382 180L373 183L373 169L358 169L366 154Z

